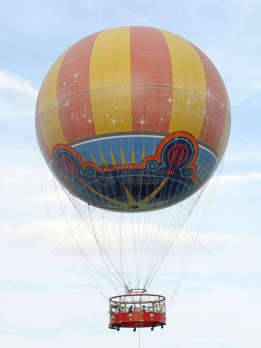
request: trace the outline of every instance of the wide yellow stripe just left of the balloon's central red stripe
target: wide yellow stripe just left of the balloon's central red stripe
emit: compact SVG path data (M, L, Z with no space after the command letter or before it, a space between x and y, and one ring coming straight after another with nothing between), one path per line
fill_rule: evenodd
M130 27L98 35L90 58L89 88L96 134L132 130Z

